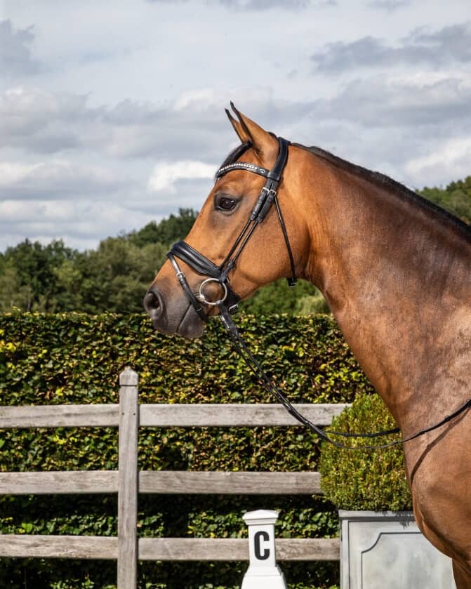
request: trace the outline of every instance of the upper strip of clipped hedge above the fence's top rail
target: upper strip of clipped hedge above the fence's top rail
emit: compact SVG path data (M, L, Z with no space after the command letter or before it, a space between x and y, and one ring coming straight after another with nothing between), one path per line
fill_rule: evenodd
M324 315L238 317L267 373L297 401L348 401L369 384ZM272 401L253 385L218 321L203 338L152 333L145 315L0 315L1 402L114 402L124 366L142 402Z

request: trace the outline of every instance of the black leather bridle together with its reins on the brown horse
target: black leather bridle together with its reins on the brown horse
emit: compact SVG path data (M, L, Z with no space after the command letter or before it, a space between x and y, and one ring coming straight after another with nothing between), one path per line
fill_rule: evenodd
M333 432L331 430L322 430L321 428L317 427L312 421L307 419L303 416L299 411L291 404L291 402L286 398L286 395L279 390L277 385L273 383L269 376L263 371L262 367L258 363L257 359L253 356L251 351L248 349L248 346L244 342L243 338L239 333L239 329L237 329L237 325L234 324L232 321L231 315L234 312L237 312L238 302L240 297L232 290L230 286L230 279L229 274L234 269L237 263L237 259L239 258L241 252L244 250L248 240L251 238L253 232L256 230L258 225L263 222L265 217L267 216L268 211L272 208L273 204L277 211L277 216L279 220L279 224L281 227L281 232L283 233L284 241L286 244L286 250L288 252L288 258L291 265L291 278L288 278L288 284L290 286L296 285L296 269L294 264L293 252L291 250L291 245L288 239L288 233L286 232L286 225L284 223L283 216L281 214L281 209L279 206L279 201L277 198L277 191L278 186L281 181L281 174L283 173L284 166L286 166L286 161L288 160L288 145L289 142L286 139L281 137L277 138L279 151L277 156L277 161L274 164L274 168L272 171L267 170L267 168L263 168L261 166L257 166L256 164L250 164L245 161L236 161L233 164L228 164L227 166L223 166L220 168L216 174L215 178L221 178L225 174L230 171L234 170L244 170L251 173L256 173L258 176L263 176L267 180L265 181L265 185L263 186L260 195L257 199L255 206L253 207L251 214L244 225L244 228L239 233L239 236L234 241L232 248L230 249L229 253L223 260L220 265L215 265L211 260L206 258L202 253L194 249L192 246L186 243L186 241L178 241L176 244L173 244L171 250L167 253L167 257L173 266L173 270L175 271L176 277L180 286L182 287L183 291L185 292L185 296L187 300L190 302L194 311L197 312L199 318L204 321L208 322L209 317L206 314L204 307L218 307L219 309L219 317L225 329L227 329L228 333L230 334L230 338L234 347L236 348L237 352L241 355L246 362L247 366L253 374L258 379L260 385L270 393L270 395L274 395L277 398L280 404L282 404L286 411L290 413L299 423L305 425L305 427L309 428L313 432L315 432L321 439L325 442L329 442L338 448L348 449L348 450L377 450L377 449L385 449L390 448L391 446L396 446L398 444L405 444L406 442L410 442L413 439L416 439L422 435L425 435L428 432L436 430L440 428L442 425L449 423L454 418L463 413L465 409L471 407L471 399L468 399L465 404L460 406L456 411L446 416L442 421L439 423L435 423L430 427L427 427L423 430L420 430L413 435L406 437L405 439L398 439L393 442L389 442L387 444L382 444L379 446L369 446L369 445L361 445L361 446L348 446L347 444L343 444L341 442L337 442L335 439L332 439L331 436L339 436L345 438L375 438L385 435L392 435L399 433L399 428L394 428L392 430L385 430L381 432L374 432L374 433L346 433L346 432ZM250 145L247 145L247 148ZM187 282L185 274L180 269L178 262L175 258L179 258L187 265L189 265L192 270L197 272L197 274L201 274L202 276L206 276L207 278L204 279L200 286L199 292L194 293L190 288L190 285ZM206 295L204 294L204 286L206 284L210 284L211 282L218 284L222 291L222 296L218 300L208 300Z

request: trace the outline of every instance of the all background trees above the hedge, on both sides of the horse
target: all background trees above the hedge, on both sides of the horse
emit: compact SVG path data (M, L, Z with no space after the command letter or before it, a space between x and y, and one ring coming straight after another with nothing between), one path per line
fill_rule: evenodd
M471 225L471 176L418 194ZM107 237L88 251L69 248L62 240L42 245L25 239L0 253L0 312L140 312L169 247L185 237L196 217L193 209L180 209L159 223ZM305 281L296 289L286 281L265 286L243 307L265 314L328 312L319 291Z

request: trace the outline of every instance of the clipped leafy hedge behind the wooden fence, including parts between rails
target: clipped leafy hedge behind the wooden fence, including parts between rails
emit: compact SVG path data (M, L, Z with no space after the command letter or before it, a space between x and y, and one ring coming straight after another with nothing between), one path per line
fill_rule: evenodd
M350 402L371 386L329 317L241 317L248 344L296 402ZM144 315L0 315L0 404L117 402L124 366L140 375L140 402L273 402L254 384L218 322L201 340L152 333ZM0 470L117 468L114 428L4 430ZM166 470L317 470L319 439L302 428L144 428L139 467ZM175 507L176 502L176 507ZM5 497L0 531L116 534L113 496ZM333 505L319 497L141 496L142 536L246 534L241 515L280 511L277 535L337 534ZM142 588L239 587L246 563L141 563ZM338 583L338 563L284 563L290 587ZM2 560L11 588L112 588L115 564ZM196 581L195 581L196 579ZM26 580L26 581L25 581ZM157 582L157 580L159 582ZM29 583L26 584L25 583Z

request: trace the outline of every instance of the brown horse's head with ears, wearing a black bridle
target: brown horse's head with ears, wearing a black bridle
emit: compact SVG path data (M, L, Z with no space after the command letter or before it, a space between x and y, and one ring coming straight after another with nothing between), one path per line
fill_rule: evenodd
M293 148L232 109L237 119L226 113L241 145L216 172L192 230L172 247L144 299L163 333L201 336L209 317L232 312L260 286L296 281L307 251L288 163Z

